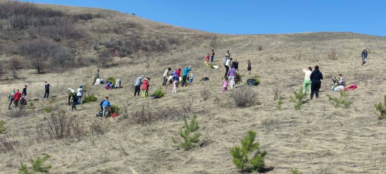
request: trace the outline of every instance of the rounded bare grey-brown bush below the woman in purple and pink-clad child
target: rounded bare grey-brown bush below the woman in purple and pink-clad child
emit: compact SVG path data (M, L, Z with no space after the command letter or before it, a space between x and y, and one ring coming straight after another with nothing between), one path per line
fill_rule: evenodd
M242 86L233 90L230 97L234 100L236 107L248 107L256 103L257 93L252 87Z

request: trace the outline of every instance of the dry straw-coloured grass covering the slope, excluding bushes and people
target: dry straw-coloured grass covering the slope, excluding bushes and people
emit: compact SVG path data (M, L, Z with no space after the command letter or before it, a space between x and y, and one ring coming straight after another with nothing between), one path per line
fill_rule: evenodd
M0 173L17 172L20 162L28 162L37 155L50 154L47 160L52 164L51 173L56 174L220 174L239 173L231 161L229 150L239 145L240 138L248 130L257 131L257 141L261 149L267 150L265 158L269 173L289 173L297 168L301 173L385 173L386 170L386 123L378 120L373 104L382 101L386 93L385 53L386 38L350 32L310 32L296 34L266 35L225 35L213 34L182 27L169 26L123 14L112 10L41 5L54 7L65 12L102 13L104 19L95 19L85 27L90 37L82 45L84 55L95 55L91 42L95 39L120 38L122 35L94 35L93 25L108 27L134 22L142 25L142 37L155 38L175 36L182 39L176 49L160 53L139 51L130 58L115 58L118 66L101 69L103 78L113 76L122 79L122 89L104 90L102 85L91 86L96 67L79 68L64 73L36 75L33 70L23 70L20 79L7 80L0 84L2 95L12 89L22 89L28 85L29 102L35 98L35 109L25 109L26 117L9 118L8 102L3 95L1 100L2 116L7 135L18 141L15 150L0 154ZM261 85L254 87L261 104L244 109L235 108L228 92L221 93L221 69L210 69L203 65L206 53L212 49L205 38L217 36L215 63L219 65L226 50L239 61L239 73L247 78L259 74ZM194 43L194 44L192 44ZM262 46L259 51L258 46ZM371 49L367 66L361 67L359 57L362 48ZM339 60L326 60L328 51L335 48ZM298 53L301 50L300 59ZM10 55L0 56L2 59ZM252 62L252 75L246 73L246 62ZM150 63L150 69L146 69ZM164 88L166 96L161 99L134 98L131 83L139 75L150 77L150 92L162 85L162 74L166 68L184 68L189 63L195 80L187 87L179 87L177 94L171 88ZM303 82L301 71L306 67L320 66L325 80L322 84L320 99L305 104L301 111L293 109L289 96L298 90ZM358 89L350 91L349 100L353 104L347 109L335 109L328 103L330 77L342 73L347 84L356 83ZM209 77L207 82L199 82L201 77ZM277 101L269 93L269 84L281 79L284 104L275 110ZM57 96L52 104L43 100L44 81L51 87L51 96ZM112 104L129 97L129 112L147 104L153 111L165 107L180 107L179 102L195 97L194 111L198 114L198 130L201 139L211 140L208 145L192 150L177 150L171 140L178 137L183 121L159 121L150 125L127 124L127 121L111 119L112 130L105 135L87 136L84 140L53 140L36 142L35 125L42 121L46 106L65 109L70 116L85 119L86 125L95 118L99 110L93 102L78 106L77 112L66 106L65 90L76 88L79 84L88 85L98 101L109 96ZM244 85L244 84L243 84ZM239 86L239 85L237 85ZM236 87L237 87L236 86ZM207 87L213 97L202 101L200 90ZM215 96L215 97L214 97ZM216 98L216 100L215 100ZM215 100L215 101L214 101Z

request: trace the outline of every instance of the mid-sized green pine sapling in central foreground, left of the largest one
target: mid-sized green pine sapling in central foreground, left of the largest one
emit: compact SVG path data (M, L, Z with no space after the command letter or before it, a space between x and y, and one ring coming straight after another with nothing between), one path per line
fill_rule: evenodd
M181 136L181 138L183 139L182 142L177 142L173 138L173 142L174 143L178 143L179 147L185 148L185 150L188 150L190 148L196 147L196 143L198 143L200 141L198 138L200 138L201 134L198 133L198 132L195 132L196 130L198 130L198 128L200 128L200 126L198 126L196 118L197 118L197 115L195 114L193 116L190 124L188 124L188 120L185 118L185 120L184 120L184 122L185 122L185 130L182 131L182 128L179 129L179 136ZM195 132L193 134L193 136L189 136L189 134L192 133L192 132Z

